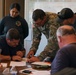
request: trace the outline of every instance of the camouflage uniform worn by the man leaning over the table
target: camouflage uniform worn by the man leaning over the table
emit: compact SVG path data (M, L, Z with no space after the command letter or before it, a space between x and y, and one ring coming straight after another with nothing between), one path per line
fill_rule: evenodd
M49 13L49 12L46 13L46 15L47 15L47 21L44 24L44 26L37 27L36 25L34 25L33 27L33 43L30 49L34 51L34 54L37 52L41 40L41 35L43 33L48 40L48 44L38 56L38 58L41 61L47 56L54 57L56 51L59 48L56 39L56 30L60 26L60 24L57 24L55 22L55 18L57 17L57 15L55 13Z

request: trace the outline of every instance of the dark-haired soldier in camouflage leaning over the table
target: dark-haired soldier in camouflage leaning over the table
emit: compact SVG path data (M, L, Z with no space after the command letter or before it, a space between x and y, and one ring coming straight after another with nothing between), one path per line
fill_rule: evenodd
M51 62L56 54L58 47L56 39L56 30L60 26L55 22L57 15L55 13L45 13L41 9L36 9L33 12L33 43L27 54L28 62L43 61L46 57L50 57ZM41 41L42 33L46 36L48 44L39 56L35 57L38 46Z

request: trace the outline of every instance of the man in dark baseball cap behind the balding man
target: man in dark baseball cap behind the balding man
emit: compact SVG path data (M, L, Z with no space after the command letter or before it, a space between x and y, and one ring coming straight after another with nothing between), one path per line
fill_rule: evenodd
M76 14L70 8L63 8L58 12L56 21L63 25L71 25L76 29Z

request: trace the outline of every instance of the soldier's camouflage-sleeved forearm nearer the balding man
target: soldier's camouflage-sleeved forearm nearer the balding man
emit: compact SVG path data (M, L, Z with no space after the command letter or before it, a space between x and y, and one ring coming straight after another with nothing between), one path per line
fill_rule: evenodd
M47 44L46 47L44 48L44 51L42 51L40 53L40 55L38 56L38 58L43 61L46 57L50 57L51 61L53 60L53 58L55 57L55 54L57 52L57 50L59 49L58 45L51 45L51 44Z

